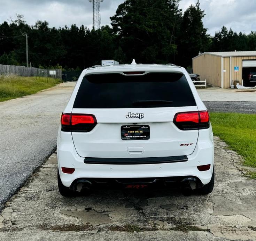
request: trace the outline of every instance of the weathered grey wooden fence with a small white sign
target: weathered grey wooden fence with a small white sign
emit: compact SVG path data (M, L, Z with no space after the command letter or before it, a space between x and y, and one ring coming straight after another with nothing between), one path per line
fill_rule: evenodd
M16 74L20 76L40 76L40 77L52 77L61 79L61 69L38 69L34 67L16 66L16 65L1 65L0 64L0 75L1 74Z

